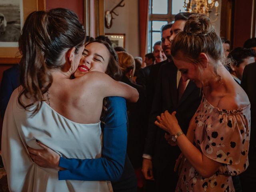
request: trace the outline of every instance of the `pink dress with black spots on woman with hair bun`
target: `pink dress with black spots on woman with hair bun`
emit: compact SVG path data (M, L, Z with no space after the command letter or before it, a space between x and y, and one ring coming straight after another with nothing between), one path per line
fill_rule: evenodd
M193 144L202 154L220 162L220 167L213 176L204 178L186 159L176 192L235 192L231 176L248 167L249 115L249 107L220 110L203 97L194 118Z

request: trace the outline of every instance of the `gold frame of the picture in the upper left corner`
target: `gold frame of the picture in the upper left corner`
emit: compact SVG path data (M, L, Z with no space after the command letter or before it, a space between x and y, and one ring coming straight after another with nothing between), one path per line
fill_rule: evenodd
M22 0L23 21L33 11L45 10L45 0ZM22 27L22 26L21 26ZM0 47L0 64L17 64L20 55L17 47Z

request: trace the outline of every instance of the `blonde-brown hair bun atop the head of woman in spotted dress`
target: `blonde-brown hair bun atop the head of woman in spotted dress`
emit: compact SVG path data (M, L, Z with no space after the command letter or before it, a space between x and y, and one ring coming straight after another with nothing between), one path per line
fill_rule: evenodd
M210 22L210 18L204 14L192 14L185 26L186 34L206 36L214 32L214 26Z

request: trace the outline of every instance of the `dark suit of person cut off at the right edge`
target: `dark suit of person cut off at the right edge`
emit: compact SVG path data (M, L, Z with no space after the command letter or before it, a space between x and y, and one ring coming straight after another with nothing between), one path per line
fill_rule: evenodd
M243 191L252 191L256 188L256 63L248 64L244 68L241 86L248 95L251 103L251 133L249 147L249 166L240 175Z

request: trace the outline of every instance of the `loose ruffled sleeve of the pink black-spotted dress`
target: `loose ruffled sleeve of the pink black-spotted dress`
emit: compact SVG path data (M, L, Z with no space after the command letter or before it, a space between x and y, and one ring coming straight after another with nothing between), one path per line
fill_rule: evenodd
M246 108L250 105L232 111L211 109L202 124L204 134L200 148L205 156L223 164L246 163L250 140L250 114L244 113Z

